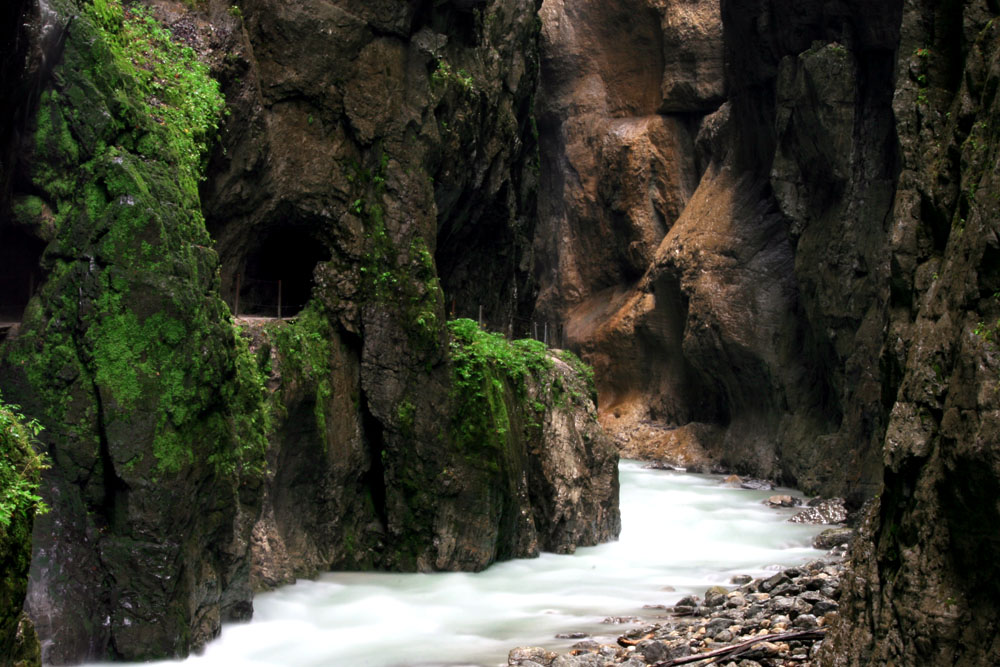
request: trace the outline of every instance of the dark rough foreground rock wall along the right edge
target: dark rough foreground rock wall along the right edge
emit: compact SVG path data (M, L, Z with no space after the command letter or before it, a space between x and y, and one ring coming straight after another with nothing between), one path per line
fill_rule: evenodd
M899 392L823 664L1000 661L998 14L904 5L886 341Z

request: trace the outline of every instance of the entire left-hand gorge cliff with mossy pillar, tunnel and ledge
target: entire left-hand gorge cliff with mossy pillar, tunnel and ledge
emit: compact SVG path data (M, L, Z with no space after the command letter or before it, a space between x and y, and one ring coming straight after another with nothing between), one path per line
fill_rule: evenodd
M535 5L190 4L40 3L53 39L4 59L37 93L2 109L4 294L34 296L0 383L53 462L46 662L185 655L331 567L616 535L578 366L446 325L534 296Z

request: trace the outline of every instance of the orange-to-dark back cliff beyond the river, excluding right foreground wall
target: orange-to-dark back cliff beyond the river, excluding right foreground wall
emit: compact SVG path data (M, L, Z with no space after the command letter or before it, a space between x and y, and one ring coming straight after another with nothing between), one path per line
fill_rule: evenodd
M604 424L639 450L870 496L898 382L869 370L898 8L590 7L542 12L538 254L540 308L597 368ZM588 25L645 36L626 50Z

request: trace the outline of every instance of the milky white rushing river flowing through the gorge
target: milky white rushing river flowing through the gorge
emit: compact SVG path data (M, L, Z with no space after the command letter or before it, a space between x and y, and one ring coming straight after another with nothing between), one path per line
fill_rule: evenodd
M781 491L787 493L788 491ZM609 641L607 616L656 612L689 593L822 555L820 527L761 504L774 492L720 478L621 464L622 533L571 556L500 563L485 572L331 573L258 595L251 622L227 625L197 667L506 665L515 646L566 649L555 635ZM177 664L177 663L160 663Z

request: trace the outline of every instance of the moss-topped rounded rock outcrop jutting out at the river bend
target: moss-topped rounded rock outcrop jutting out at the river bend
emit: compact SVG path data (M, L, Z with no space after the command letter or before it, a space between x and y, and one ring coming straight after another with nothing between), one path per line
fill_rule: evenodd
M388 564L479 570L617 536L618 456L579 360L472 320L448 328L437 446L397 444L427 418L407 401L384 441Z

